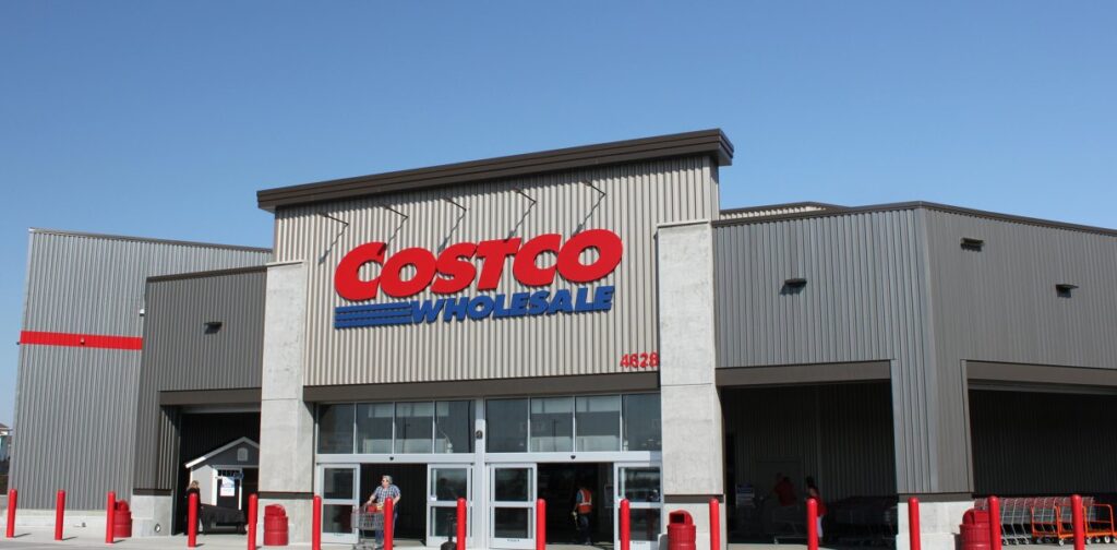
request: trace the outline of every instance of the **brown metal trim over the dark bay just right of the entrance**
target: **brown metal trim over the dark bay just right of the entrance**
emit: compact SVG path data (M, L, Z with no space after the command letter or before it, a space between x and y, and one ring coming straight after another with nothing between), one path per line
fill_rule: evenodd
M720 368L718 387L858 382L891 378L889 361Z

